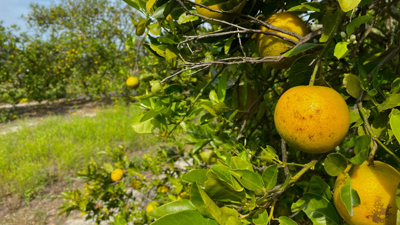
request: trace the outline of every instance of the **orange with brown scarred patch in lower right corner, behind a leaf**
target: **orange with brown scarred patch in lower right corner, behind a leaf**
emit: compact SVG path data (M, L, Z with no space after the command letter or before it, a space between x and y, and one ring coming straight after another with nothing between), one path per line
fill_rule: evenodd
M347 173L352 164L344 171ZM353 206L354 215L350 217L340 199L340 188L345 184L345 175L336 179L333 201L343 219L350 225L394 225L396 224L397 206L395 202L400 174L390 165L375 161L369 166L365 161L354 166L350 174L352 188L360 197L360 205Z

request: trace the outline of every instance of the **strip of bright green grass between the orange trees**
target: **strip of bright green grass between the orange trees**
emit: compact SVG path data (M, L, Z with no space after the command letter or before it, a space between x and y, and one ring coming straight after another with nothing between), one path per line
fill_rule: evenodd
M99 151L120 144L130 151L156 143L154 135L134 133L130 125L137 106L99 108L94 117L49 116L37 125L0 135L0 196L30 193L63 179L88 163Z

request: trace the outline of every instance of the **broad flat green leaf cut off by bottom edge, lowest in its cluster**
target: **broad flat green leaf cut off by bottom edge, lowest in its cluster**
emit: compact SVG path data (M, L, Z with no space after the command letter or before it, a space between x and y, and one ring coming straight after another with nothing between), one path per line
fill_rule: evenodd
M218 225L213 219L204 218L197 209L189 209L176 213L170 213L157 219L152 225Z

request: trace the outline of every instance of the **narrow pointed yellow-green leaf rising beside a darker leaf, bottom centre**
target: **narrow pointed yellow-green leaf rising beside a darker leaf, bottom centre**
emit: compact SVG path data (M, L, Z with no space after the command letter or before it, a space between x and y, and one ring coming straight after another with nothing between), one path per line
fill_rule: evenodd
M197 184L198 186L198 184ZM200 196L203 199L204 205L206 205L206 209L208 209L208 211L210 212L211 216L219 223L219 224L226 224L226 221L231 222L231 224L236 225L236 224L241 224L238 217L236 217L236 221L232 220L231 214L232 211L228 211L228 209L226 209L226 211L223 211L222 209L220 209L215 203L214 201L212 201L212 199L206 194L206 192L203 191L203 189L201 189L198 186L198 190L200 193ZM235 213L236 210L235 210ZM236 214L238 216L238 213Z

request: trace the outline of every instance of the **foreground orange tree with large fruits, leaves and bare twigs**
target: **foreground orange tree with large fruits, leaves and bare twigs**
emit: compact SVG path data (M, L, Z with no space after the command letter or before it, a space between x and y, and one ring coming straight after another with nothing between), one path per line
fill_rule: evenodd
M60 213L115 225L396 224L399 1L124 1L142 13L142 46L168 63L136 97L132 128L168 145L106 152L113 163L78 173L84 192L64 192Z

